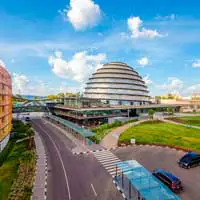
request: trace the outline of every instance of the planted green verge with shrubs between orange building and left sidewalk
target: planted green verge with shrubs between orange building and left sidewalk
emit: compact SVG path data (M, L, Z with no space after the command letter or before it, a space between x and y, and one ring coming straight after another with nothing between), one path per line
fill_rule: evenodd
M30 123L13 121L15 135L0 153L0 200L28 200L35 174L35 145ZM27 140L17 143L17 140Z

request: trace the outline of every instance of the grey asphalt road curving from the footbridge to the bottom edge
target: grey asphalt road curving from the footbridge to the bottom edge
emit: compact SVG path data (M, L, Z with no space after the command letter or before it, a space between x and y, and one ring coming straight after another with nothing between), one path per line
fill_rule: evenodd
M122 200L93 154L75 156L75 144L58 129L42 120L33 120L48 157L48 200Z

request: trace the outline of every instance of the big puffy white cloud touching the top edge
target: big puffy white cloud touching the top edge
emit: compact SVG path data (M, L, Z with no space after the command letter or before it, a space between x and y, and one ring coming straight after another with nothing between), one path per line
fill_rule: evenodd
M69 9L60 11L76 30L94 27L101 19L101 9L92 0L70 0Z

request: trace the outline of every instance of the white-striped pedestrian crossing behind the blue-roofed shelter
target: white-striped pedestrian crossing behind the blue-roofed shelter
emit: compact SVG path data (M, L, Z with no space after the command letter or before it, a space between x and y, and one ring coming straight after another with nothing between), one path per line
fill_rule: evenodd
M94 156L111 176L116 175L116 164L121 161L117 156L110 151L94 152Z

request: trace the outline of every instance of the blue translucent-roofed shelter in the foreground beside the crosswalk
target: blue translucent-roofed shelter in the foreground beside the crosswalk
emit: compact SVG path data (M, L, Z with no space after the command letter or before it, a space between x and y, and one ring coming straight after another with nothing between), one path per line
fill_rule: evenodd
M181 200L136 160L118 162L115 181L128 200Z

